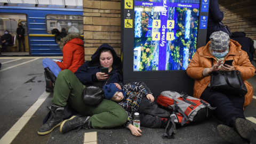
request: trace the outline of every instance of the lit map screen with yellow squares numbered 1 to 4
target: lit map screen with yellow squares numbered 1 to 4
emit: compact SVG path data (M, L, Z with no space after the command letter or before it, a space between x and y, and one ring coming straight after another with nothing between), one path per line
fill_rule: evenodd
M134 71L185 70L196 51L199 0L162 1L134 2Z

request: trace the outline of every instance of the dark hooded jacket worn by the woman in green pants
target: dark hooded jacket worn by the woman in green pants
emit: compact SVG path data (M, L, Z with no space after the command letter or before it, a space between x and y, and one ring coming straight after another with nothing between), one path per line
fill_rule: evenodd
M107 48L110 49L111 52L113 53L113 65L112 65L112 70L109 73L109 80L106 79L105 81L98 81L96 77L96 73L101 71L101 66L100 66L100 50L102 48ZM81 67L77 69L75 72L75 75L79 79L79 81L86 86L98 86L102 87L103 85L110 84L110 83L123 83L123 76L122 76L122 62L121 58L119 58L113 49L108 44L102 44L97 51L92 55L91 61L86 61ZM108 82L106 83L106 81Z

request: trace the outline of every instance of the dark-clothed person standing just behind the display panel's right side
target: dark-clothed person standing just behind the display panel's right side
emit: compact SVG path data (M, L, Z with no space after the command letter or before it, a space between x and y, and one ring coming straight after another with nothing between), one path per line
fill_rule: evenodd
M210 36L213 32L221 30L218 23L221 22L223 18L224 14L220 11L218 0L210 0L206 43L210 41Z

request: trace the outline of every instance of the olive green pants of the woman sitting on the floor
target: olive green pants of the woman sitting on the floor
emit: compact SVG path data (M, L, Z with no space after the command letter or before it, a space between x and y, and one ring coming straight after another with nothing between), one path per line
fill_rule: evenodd
M72 71L62 70L55 82L52 102L64 107L68 100L79 113L92 115L89 121L94 129L120 126L127 121L126 111L114 101L103 99L98 106L86 105L82 98L83 88Z

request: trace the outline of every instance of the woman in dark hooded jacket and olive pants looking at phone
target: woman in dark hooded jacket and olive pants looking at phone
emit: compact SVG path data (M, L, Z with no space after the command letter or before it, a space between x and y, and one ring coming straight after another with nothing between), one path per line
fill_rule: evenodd
M101 73L101 67L108 68L109 74ZM81 126L84 129L115 127L124 124L127 120L127 114L117 103L103 99L98 106L89 106L84 103L82 98L86 86L102 87L110 83L122 84L121 68L121 58L117 56L113 47L102 44L92 55L92 60L86 61L79 67L76 75L68 69L60 71L54 86L53 104L49 108L51 111L50 118L38 130L38 134L50 133L55 127L61 125L67 100L73 109L86 116L82 117L81 121ZM66 129L69 128L66 127ZM61 132L65 131L61 129Z

